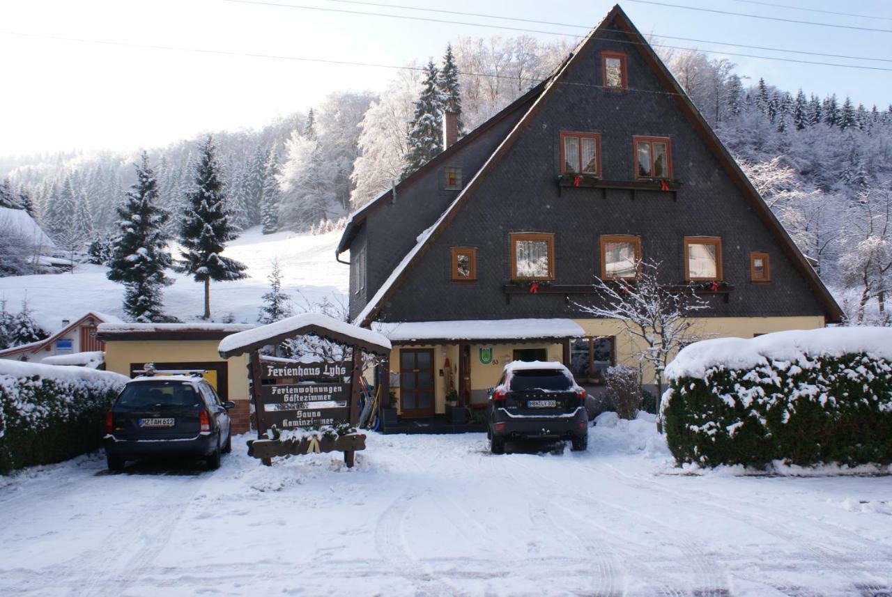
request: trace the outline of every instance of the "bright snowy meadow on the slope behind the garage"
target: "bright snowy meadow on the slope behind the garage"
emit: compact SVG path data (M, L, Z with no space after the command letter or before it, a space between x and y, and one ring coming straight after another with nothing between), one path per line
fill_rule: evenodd
M260 233L260 226L244 232L227 246L224 255L248 266L249 278L211 284L211 314L214 319L231 315L235 323L256 323L260 297L269 289L267 276L273 258L278 258L285 276L284 289L292 295L295 307L326 297L346 296L350 268L335 261L335 247L341 232L313 236L308 233ZM28 297L37 323L46 331L56 331L62 319L87 311L118 315L124 289L105 277L103 266L78 266L73 274L22 275L0 278L0 299L13 313ZM203 313L203 287L189 276L169 272L173 285L164 289L164 307L170 315L194 321Z

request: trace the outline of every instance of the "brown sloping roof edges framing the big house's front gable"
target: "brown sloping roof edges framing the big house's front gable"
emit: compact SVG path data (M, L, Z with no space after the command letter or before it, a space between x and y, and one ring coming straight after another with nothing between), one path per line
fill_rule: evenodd
M732 182L739 187L744 197L749 201L751 207L756 212L756 215L760 217L764 225L766 225L777 238L781 248L797 268L797 271L799 271L806 282L812 286L814 294L826 309L825 317L827 321L838 322L842 320L842 309L839 308L836 300L833 299L833 296L830 294L830 290L827 290L827 287L824 286L820 277L818 277L818 274L814 271L814 268L797 248L796 243L790 238L789 233L787 233L783 225L780 224L780 220L773 214L772 210L762 199L762 196L756 191L753 184L750 183L743 170L740 169L737 161L731 156L731 153L725 148L723 143L713 132L712 128L706 123L706 119L700 114L697 107L690 100L688 94L684 92L684 89L679 85L678 81L675 80L672 73L665 67L663 61L659 59L657 53L654 52L654 49L648 43L648 40L640 34L640 31L635 28L632 21L629 20L625 12L623 12L623 9L616 4L613 9L607 13L607 17L605 17L595 29L591 29L588 35L582 38L579 45L577 45L574 48L574 51L568 55L566 60L563 61L551 75L549 75L549 78L543 81L539 86L535 87L535 89L541 91L538 93L538 97L526 111L524 116L517 122L516 126L511 129L508 136L506 136L499 144L490 158L483 163L483 167L475 173L475 176L467 186L458 193L456 199L452 201L450 206L442 213L437 221L434 222L434 225L418 236L415 247L410 249L409 253L401 260L400 264L393 269L392 273L384 281L384 284L382 284L376 291L372 299L368 301L366 307L364 307L362 311L359 312L359 315L354 318L354 323L357 323L358 325L368 325L372 322L378 311L384 305L386 299L388 299L392 292L396 290L397 286L399 286L405 274L417 263L417 259L421 257L428 247L430 247L431 242L439 236L447 225L449 225L452 218L455 217L455 214L458 212L458 209L461 209L467 201L467 198L475 192L476 188L483 181L483 177L499 163L502 156L505 155L508 149L515 143L516 139L523 133L524 128L548 101L549 95L554 89L555 84L558 82L558 79L564 75L567 67L573 63L574 58L579 55L582 48L585 45L588 45L591 42L591 39L595 37L601 29L606 28L607 25L610 24L615 24L615 26L622 30L626 36L632 38L632 45L637 49L650 69L655 72L657 78L659 78L660 82L665 86L665 89L672 94L673 100L678 105L681 113L690 120L691 125L697 131L704 143L706 143L706 146L710 151L714 153L716 159L718 159L719 163L723 166ZM434 159L428 162L425 166L419 168L419 171L435 168L434 161L436 160Z

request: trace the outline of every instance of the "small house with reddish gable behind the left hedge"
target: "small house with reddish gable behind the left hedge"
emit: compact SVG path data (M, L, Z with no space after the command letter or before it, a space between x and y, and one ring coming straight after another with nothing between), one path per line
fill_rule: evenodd
M16 361L42 362L47 357L75 355L78 353L92 353L87 361L94 361L95 353L102 352L104 343L96 338L96 330L100 323L120 323L120 319L114 315L105 315L95 311L88 311L74 319L63 319L62 326L49 337L29 342L21 346L0 350L0 358ZM76 363L72 357L65 364ZM62 364L60 361L51 361L51 364Z

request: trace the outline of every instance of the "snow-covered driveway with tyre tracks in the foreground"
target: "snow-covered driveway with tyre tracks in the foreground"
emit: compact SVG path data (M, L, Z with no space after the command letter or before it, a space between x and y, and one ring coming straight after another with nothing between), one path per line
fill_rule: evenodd
M353 470L264 468L244 440L215 472L92 456L0 479L0 594L892 590L892 477L681 474L648 420L602 415L587 453L370 434Z

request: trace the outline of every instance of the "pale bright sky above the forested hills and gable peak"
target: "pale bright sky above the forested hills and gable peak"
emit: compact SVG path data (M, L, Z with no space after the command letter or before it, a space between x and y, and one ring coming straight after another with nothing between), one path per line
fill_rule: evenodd
M613 0L368 1L577 23L585 27L596 25L614 4ZM501 24L571 35L583 32L552 25L363 6L338 0L268 2ZM892 69L892 2L886 0L780 2L870 14L870 19L801 12L752 0L665 2L888 29L889 32L756 20L631 0L621 4L645 34L868 56L887 61L770 53L666 40L672 45ZM25 35L10 35L10 32ZM150 49L139 45L401 65L413 59L425 60L428 56L439 58L446 43L458 35L508 37L521 32L232 0L2 0L0 155L73 149L132 150L165 145L205 130L260 127L278 115L305 110L335 90L380 91L392 77L392 70L371 67ZM541 39L557 37L530 35ZM806 93L850 94L855 103L863 102L868 107L873 103L888 106L892 102L892 71L727 57L739 65L739 74L764 77L769 83L794 93L802 87Z

